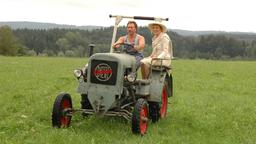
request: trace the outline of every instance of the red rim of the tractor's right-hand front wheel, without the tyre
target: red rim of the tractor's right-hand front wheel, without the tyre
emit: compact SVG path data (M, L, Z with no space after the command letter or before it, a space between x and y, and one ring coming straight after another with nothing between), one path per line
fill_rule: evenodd
M148 109L146 106L144 106L140 111L140 133L145 134L148 127Z

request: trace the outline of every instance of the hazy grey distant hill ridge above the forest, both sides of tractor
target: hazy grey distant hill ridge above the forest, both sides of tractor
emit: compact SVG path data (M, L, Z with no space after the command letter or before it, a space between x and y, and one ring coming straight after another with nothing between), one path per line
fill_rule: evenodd
M27 22L27 21L17 21L17 22L0 22L0 26L8 25L12 29L82 29L82 30L93 30L103 28L102 26L75 26L75 25L63 25L54 23L41 23L41 22ZM240 40L251 41L256 39L256 33L247 32L225 32L225 31L189 31L180 29L170 29L173 32L178 33L181 36L200 36L200 35L210 35L210 34L224 34L226 36L234 37Z

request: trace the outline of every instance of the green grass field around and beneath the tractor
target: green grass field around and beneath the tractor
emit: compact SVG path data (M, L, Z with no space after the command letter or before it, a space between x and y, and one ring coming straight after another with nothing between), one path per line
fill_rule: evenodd
M52 128L60 92L80 107L73 69L83 58L0 56L1 144L254 144L256 61L173 61L174 97L168 116L150 123L141 137L122 118L72 118L67 129Z

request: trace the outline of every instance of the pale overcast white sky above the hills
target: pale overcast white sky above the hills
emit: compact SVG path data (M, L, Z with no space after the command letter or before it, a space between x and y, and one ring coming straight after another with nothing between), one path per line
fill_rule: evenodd
M255 0L0 0L0 21L110 26L112 15L169 18L168 29L256 32ZM123 20L121 25L125 25ZM137 21L147 25L150 21Z

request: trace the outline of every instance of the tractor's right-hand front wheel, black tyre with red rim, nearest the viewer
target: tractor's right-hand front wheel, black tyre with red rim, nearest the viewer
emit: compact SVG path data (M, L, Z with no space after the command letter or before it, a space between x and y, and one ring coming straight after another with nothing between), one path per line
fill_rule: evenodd
M148 128L148 121L148 103L145 99L140 98L136 102L132 113L132 132L144 135Z

